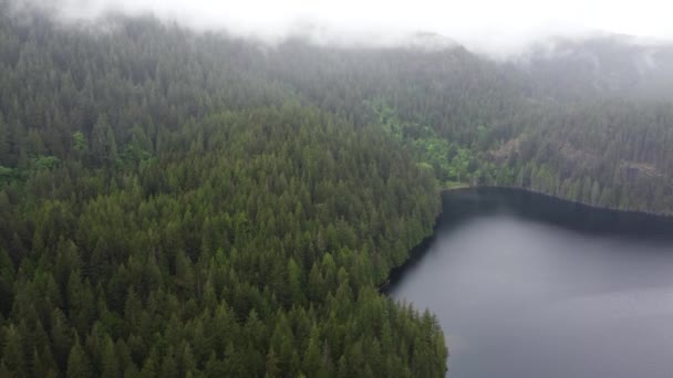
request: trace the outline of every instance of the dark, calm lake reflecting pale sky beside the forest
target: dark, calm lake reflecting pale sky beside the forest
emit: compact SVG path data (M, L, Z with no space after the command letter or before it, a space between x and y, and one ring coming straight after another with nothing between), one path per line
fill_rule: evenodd
M390 295L431 308L448 376L673 377L673 221L515 189L443 195Z

